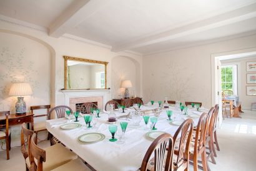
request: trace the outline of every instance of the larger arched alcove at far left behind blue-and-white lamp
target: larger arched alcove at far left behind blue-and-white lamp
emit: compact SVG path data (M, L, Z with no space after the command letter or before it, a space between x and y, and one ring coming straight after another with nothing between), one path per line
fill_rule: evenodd
M51 45L11 30L0 29L0 37L0 109L15 112L17 98L8 93L18 81L31 84L33 95L24 97L27 107L54 104L56 52Z

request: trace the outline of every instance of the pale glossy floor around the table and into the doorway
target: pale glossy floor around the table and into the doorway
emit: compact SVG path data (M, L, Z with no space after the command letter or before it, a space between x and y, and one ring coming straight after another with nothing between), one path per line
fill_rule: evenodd
M220 152L217 152L217 164L209 164L211 170L255 170L256 111L245 111L241 116L225 118L222 127L217 130ZM39 146L47 147L50 143L43 141ZM20 147L11 149L10 160L6 160L6 152L0 152L0 170L25 170ZM192 166L190 170L193 170Z

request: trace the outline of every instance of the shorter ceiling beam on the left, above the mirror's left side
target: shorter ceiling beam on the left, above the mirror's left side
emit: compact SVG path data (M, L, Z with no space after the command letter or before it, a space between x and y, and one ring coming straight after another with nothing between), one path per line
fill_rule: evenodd
M106 6L112 0L79 0L74 1L71 6L67 7L62 14L49 27L49 35L52 37L61 37L69 29L81 24L92 14L102 7Z

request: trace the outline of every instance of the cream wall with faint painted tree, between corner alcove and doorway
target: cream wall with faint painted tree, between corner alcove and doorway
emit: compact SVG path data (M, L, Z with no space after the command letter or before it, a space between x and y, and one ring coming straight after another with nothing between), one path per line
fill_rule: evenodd
M143 58L143 97L202 101L212 106L211 55L256 47L256 35L214 44L146 55Z

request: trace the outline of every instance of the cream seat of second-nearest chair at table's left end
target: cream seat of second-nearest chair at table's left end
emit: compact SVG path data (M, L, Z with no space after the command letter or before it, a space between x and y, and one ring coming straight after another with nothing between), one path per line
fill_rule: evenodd
M42 164L44 171L56 169L71 160L77 159L77 155L62 144L56 144L44 150L46 150L46 162ZM36 159L35 162L37 163ZM26 159L26 164L30 167L29 157Z

